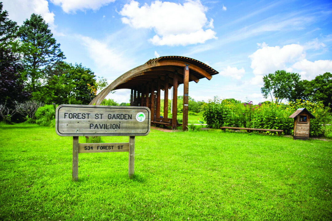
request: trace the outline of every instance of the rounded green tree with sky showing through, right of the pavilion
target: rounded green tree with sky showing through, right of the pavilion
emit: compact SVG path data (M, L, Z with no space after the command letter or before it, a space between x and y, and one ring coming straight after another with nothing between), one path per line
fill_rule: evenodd
M300 76L297 73L278 70L263 77L264 86L261 88L261 92L264 98L271 96L272 102L274 102L273 97L275 97L275 102L281 103L283 99L291 99L291 91L299 80Z

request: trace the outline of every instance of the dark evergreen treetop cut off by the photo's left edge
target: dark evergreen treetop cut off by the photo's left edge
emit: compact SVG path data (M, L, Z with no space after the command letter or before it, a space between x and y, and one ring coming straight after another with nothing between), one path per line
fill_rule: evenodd
M0 44L3 46L12 40L17 33L17 23L8 19L8 12L2 11L2 2L0 2Z

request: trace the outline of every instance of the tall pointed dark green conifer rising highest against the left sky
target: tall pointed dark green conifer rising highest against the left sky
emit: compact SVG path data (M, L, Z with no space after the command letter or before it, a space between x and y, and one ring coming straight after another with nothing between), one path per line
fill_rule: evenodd
M40 15L32 14L30 20L27 19L19 28L18 36L23 43L30 45L24 51L23 60L30 89L34 92L42 85L42 79L48 77L45 68L53 67L65 56Z

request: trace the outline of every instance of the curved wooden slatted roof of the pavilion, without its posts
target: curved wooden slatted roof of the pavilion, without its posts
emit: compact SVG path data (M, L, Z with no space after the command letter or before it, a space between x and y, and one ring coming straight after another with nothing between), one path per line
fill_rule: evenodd
M163 56L148 60L145 64L127 71L114 82L101 91L90 105L99 105L104 98L116 89L134 89L142 91L146 85L157 84L165 87L165 79L169 78L168 88L173 85L173 76L178 74L178 83L183 83L183 72L186 65L189 65L189 81L198 81L202 78L211 80L212 75L218 74L216 70L198 60L182 56Z

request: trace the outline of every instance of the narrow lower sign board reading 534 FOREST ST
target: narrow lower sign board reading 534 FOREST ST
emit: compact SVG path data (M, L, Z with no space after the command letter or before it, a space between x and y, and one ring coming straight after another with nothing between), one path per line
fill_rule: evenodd
M80 143L79 153L128 152L129 143Z

